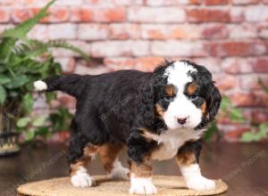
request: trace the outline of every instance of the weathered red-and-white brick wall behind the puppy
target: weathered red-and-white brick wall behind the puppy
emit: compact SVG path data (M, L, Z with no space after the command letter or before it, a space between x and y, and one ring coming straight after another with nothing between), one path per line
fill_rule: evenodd
M47 2L1 0L0 30ZM51 12L30 37L66 39L92 58L85 64L74 53L54 52L67 73L152 70L163 57L188 58L214 73L248 119L244 125L223 120L224 140L237 141L250 121L268 119L268 97L257 85L257 78L268 85L267 0L58 0ZM54 104L60 103L74 104L65 94Z

